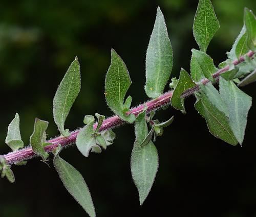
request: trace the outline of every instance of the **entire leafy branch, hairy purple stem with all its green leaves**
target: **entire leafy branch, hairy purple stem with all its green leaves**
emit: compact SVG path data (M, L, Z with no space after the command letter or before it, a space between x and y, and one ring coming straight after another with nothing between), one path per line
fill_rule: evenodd
M46 161L52 153L54 167L63 185L90 216L96 216L84 178L59 154L63 147L71 143L76 143L78 151L85 157L91 152L100 153L113 144L116 134L112 129L119 124L129 123L134 124L136 137L131 154L131 173L142 205L158 171L156 139L163 135L164 127L168 127L174 120L172 116L160 122L154 119L155 112L172 105L185 114L185 97L188 95L195 96L195 109L205 119L212 135L232 146L238 143L242 146L252 99L239 87L256 81L256 18L252 11L245 8L243 28L228 52L227 60L217 68L206 51L219 27L210 0L199 0L193 25L199 50L191 50L190 74L181 68L179 79L172 78L172 82L167 85L173 67L173 50L164 15L158 7L145 57L144 89L150 100L131 109L132 97L129 95L126 98L132 84L129 71L112 49L104 94L106 104L115 116L105 118L98 113L95 116L85 115L84 127L70 133L65 129L65 122L81 86L80 64L76 57L60 82L53 100L53 117L60 136L47 140L48 122L35 118L29 147L24 148L19 131L19 115L16 113L5 140L12 152L0 156L1 177L13 183L15 178L12 164L24 165L34 156L40 156ZM169 91L163 93L166 85Z

